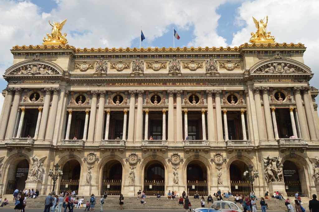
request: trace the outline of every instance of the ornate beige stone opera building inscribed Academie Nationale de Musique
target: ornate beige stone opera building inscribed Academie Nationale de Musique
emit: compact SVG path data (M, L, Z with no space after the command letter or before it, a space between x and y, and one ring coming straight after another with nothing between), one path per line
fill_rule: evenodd
M15 46L0 194L47 194L54 164L55 191L81 195L247 193L251 166L258 196L319 192L318 90L305 50Z

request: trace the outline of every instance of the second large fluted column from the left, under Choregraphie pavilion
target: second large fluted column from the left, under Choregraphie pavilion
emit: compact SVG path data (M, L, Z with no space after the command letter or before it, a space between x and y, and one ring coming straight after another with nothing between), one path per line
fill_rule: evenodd
M16 92L14 94L12 107L9 106L9 108L11 107L11 111L10 111L10 116L9 116L7 132L5 134L5 140L9 140L9 138L12 138L13 132L14 132L14 127L16 124L17 116L18 116L22 88L15 88L15 91Z

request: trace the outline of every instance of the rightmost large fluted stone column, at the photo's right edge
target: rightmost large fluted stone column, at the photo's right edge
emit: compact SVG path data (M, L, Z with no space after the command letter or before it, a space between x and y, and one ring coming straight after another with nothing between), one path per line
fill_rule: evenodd
M312 113L312 104L311 99L309 98L309 87L302 87L303 88L303 101L305 103L305 110L306 110L306 116L307 116L307 122L308 122L308 129L310 134L310 140L312 142L317 142L317 133L315 128L315 121Z

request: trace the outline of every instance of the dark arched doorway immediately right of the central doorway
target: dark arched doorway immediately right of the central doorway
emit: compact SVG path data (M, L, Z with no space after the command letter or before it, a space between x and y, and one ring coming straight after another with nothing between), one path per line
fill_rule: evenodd
M198 191L200 196L208 196L207 169L203 162L192 161L186 168L187 189L191 196Z

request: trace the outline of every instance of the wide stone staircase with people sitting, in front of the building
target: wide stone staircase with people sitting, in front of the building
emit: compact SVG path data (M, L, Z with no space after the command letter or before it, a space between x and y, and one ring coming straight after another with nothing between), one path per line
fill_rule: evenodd
M14 202L13 202L13 196L10 194L6 194L3 195L3 200L4 198L8 198L9 199L9 204L4 206L4 208L14 208ZM26 208L44 208L44 195L39 196L36 199L31 199L28 198L27 199L27 206ZM86 201L89 200L90 197L85 196L85 200L84 203L86 204ZM99 203L99 199L100 197L96 197L97 199L97 204L96 204L96 209L100 208L100 203ZM150 210L150 209L163 209L163 210L183 210L183 206L182 205L178 205L178 198L176 198L176 200L167 200L167 198L162 197L161 200L157 200L155 196L147 196L147 198L145 199L145 205L140 205L140 201L137 200L136 197L124 197L124 209L145 209L145 210ZM217 201L216 198L213 198L214 201ZM291 200L291 204L294 207L294 197L290 197ZM303 205L302 207L304 207L307 211L308 211L308 202L310 200L310 198L308 197L302 197L301 198L303 201ZM206 202L207 200L207 196L205 196L205 203L206 203L206 207L209 207L211 204L207 204ZM227 200L226 198L224 198L224 200ZM228 198L228 201L233 201L234 198ZM189 198L189 201L192 204L192 209L195 208L200 208L200 201L198 199L193 199L192 197ZM258 198L258 201L256 201L257 203L257 209L258 211L261 210L261 206L259 205L259 201L260 199ZM285 200L278 200L278 199L274 199L271 198L271 201L267 201L266 203L268 203L269 206L269 210L276 210L276 211L287 211L287 207L285 206ZM241 208L241 204L237 203L237 206ZM85 206L84 206L85 208ZM119 208L119 196L108 196L107 199L105 199L105 204L103 206L104 209L118 209ZM76 209L76 208L75 208ZM267 209L268 210L268 209Z

